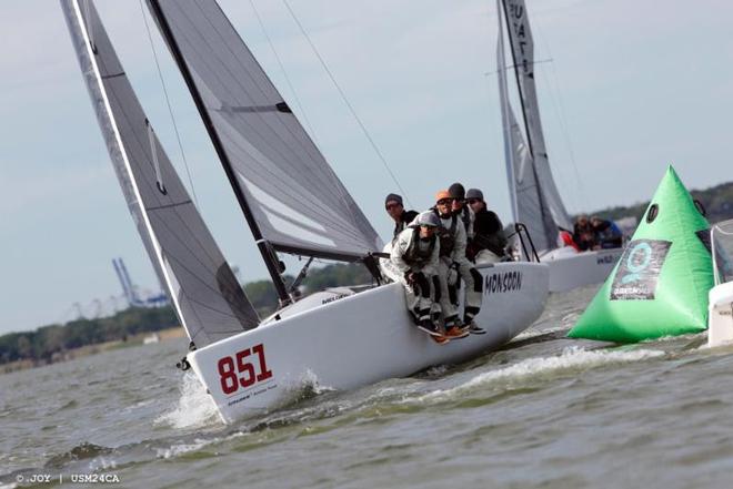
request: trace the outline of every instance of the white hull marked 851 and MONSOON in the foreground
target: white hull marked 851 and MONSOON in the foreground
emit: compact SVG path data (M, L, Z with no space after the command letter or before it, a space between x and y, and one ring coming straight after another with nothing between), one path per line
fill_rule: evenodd
M404 291L393 283L341 298L314 295L318 304L302 310L308 297L295 305L301 312L285 309L280 319L190 353L188 360L224 422L292 401L309 381L353 389L463 361L528 328L548 297L544 265L508 263L481 273L485 286L476 323L485 335L435 344L411 322Z

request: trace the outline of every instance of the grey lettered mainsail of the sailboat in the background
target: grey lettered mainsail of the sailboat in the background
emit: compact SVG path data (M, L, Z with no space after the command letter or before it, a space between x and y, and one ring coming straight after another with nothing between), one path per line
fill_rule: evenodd
M540 121L540 105L534 84L534 41L526 16L526 7L524 6L524 0L503 0L503 6L519 93L522 101L530 157L534 180L540 193L538 203L541 205L543 215L542 232L549 244L546 248L553 248L556 246L558 227L572 230L572 223L558 192L548 160L542 123ZM521 215L520 217L524 218ZM538 235L538 230L530 228L530 232L533 237ZM542 246L538 246L538 248L542 248Z

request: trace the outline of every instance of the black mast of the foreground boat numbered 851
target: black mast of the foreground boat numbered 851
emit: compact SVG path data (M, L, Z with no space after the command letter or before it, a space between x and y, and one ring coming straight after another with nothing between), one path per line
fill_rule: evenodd
M189 70L185 60L181 54L181 50L171 32L171 28L168 24L168 20L165 19L165 16L163 14L163 11L160 8L160 4L158 3L158 0L149 0L149 4L151 7L153 14L158 19L158 26L160 27L160 32L163 34L163 38L168 42L171 53L175 59L175 63L178 64L181 74L183 75L183 80L185 80L185 84L188 85L189 91L191 92L191 96L193 98L193 102L195 103L195 106L199 110L199 114L201 115L203 125L207 128L209 137L211 137L211 142L213 143L214 150L217 151L219 161L221 162L221 165L224 169L224 173L229 179L229 183L231 184L231 187L234 191L237 201L239 202L239 205L242 208L244 218L247 220L247 224L250 226L250 231L252 232L252 236L254 237L254 242L257 243L258 249L260 249L262 259L264 261L264 264L268 267L268 272L270 273L270 277L272 278L274 288L278 292L278 297L280 297L280 303L288 304L292 299L288 294L288 288L282 278L282 275L280 275L280 263L278 261L278 257L274 251L272 251L272 248L268 245L268 242L262 237L262 232L260 231L260 226L257 224L257 221L254 220L254 215L250 210L244 193L237 183L237 175L234 175L232 164L229 161L229 156L227 155L227 152L224 151L223 144L219 137L219 133L214 129L211 118L207 112L205 105L203 103L203 99L201 98L201 93L199 92L199 90L195 86L195 83L193 82L191 71Z

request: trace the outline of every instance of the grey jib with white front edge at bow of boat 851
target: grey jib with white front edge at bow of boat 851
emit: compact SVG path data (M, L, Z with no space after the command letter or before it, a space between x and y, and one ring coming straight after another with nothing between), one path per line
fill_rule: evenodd
M99 125L153 267L198 347L259 324L152 132L91 1L61 0Z

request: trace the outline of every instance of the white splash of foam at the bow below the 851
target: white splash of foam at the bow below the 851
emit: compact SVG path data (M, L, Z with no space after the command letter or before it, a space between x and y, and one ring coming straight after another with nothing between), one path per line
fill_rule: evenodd
M215 422L219 417L213 399L192 373L185 373L179 385L181 397L178 405L155 419L173 428L202 427Z

